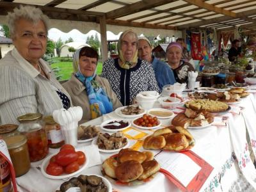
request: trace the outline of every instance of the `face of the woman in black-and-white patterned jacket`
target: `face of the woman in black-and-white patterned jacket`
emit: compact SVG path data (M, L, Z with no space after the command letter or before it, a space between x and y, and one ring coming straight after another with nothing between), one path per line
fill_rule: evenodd
M125 61L131 61L137 50L136 36L133 33L127 33L123 37L121 50Z

